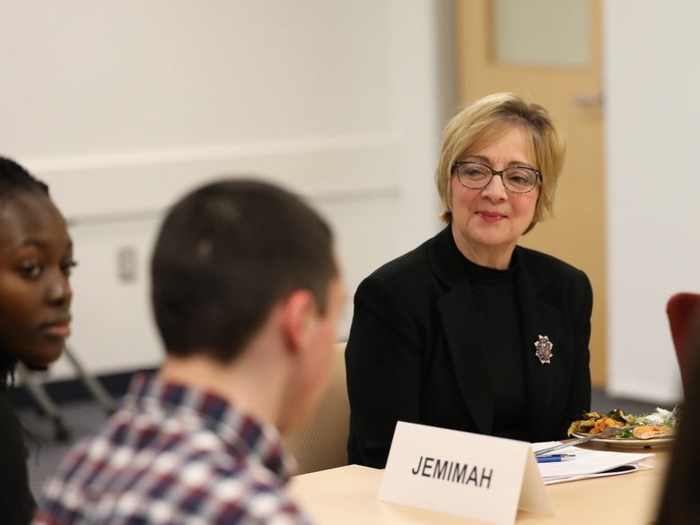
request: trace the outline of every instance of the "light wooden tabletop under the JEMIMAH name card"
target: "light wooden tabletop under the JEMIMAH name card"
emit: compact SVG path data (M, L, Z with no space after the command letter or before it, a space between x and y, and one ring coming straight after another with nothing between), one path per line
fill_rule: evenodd
M619 450L617 450L619 451ZM547 486L555 517L519 511L516 523L577 525L653 523L668 451L655 453L654 468ZM377 499L382 470L349 465L293 477L294 499L321 525L375 523L468 524L465 520Z

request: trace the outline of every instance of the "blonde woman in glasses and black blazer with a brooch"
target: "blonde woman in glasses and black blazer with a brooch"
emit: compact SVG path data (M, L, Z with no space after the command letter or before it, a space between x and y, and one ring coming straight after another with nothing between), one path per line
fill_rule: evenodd
M551 214L564 141L512 93L445 129L446 227L364 279L346 366L351 463L383 467L397 421L538 442L591 403L588 277L518 246Z

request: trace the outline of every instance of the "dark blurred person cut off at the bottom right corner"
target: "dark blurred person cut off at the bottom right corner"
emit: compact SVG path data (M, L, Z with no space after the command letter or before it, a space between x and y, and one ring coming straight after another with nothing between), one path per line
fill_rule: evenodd
M680 427L673 444L666 484L661 494L658 525L696 525L700 522L697 476L700 472L700 318L685 349L691 365Z

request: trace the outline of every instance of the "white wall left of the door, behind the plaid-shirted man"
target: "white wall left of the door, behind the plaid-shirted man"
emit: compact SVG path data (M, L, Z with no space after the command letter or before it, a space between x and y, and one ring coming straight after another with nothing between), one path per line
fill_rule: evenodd
M433 167L453 109L451 2L4 3L0 144L71 222L69 344L93 372L153 366L147 263L162 212L222 174L328 216L352 295L439 227ZM448 86L445 88L444 86ZM138 258L118 278L119 249ZM352 315L348 302L341 332ZM59 363L55 377L70 371Z

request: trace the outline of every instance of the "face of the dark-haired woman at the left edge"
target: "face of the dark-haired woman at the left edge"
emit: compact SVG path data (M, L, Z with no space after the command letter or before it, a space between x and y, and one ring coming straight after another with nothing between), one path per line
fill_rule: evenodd
M31 368L55 361L70 334L73 266L66 221L48 197L0 200L0 348Z

